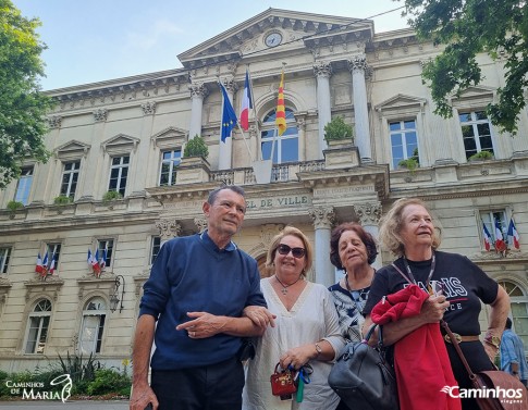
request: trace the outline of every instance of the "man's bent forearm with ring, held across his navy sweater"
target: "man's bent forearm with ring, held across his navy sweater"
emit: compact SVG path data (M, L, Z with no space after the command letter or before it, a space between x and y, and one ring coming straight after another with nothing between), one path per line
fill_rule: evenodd
M187 331L189 337L196 339L211 337L219 333L240 337L261 336L267 327L257 325L245 316L217 316L207 312L188 312L187 316L193 320L179 324L176 331Z

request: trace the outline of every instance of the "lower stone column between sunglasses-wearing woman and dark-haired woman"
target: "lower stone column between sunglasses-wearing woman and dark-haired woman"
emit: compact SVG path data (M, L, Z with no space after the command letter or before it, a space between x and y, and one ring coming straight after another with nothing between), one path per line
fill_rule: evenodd
M333 207L317 207L308 211L316 228L315 282L324 286L335 283L335 268L330 263L330 232L334 222Z

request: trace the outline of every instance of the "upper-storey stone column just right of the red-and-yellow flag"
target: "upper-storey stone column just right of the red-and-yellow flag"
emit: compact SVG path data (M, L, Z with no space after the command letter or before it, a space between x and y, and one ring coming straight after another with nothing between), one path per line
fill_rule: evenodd
M317 78L317 110L319 115L319 150L317 159L322 160L324 151L328 148L324 140L324 125L332 120L332 110L330 102L330 76L332 75L332 65L320 61L314 65L314 73Z

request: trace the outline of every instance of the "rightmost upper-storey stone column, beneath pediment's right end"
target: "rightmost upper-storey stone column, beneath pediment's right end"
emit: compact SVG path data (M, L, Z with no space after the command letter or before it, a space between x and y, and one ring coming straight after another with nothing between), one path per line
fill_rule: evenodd
M348 60L348 66L352 72L352 87L354 91L354 140L359 149L359 157L361 161L372 162L370 126L368 120L367 85L365 84L367 59L365 55L356 55Z

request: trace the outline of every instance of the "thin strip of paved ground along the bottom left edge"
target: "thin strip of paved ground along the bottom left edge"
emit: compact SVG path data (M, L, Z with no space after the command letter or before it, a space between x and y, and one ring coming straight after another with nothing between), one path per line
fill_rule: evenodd
M127 400L109 400L109 401L62 401L52 400L17 400L0 401L0 410L127 410Z

